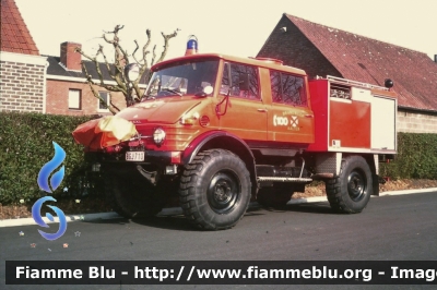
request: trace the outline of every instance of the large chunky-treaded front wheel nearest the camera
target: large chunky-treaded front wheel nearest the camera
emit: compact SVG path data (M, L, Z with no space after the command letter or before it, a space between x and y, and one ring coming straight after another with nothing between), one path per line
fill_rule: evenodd
M199 153L180 180L179 201L184 214L205 230L234 227L245 215L250 194L246 165L224 149Z

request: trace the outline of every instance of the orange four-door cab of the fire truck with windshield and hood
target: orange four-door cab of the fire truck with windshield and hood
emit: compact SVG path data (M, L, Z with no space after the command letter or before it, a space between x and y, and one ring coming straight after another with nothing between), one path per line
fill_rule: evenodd
M142 101L117 116L133 122L143 136L157 125L179 133L168 132L162 144L147 142L154 150L184 152L187 142L213 130L234 134L249 147L285 142L306 148L315 140L302 70L277 60L194 55L161 62L152 71Z

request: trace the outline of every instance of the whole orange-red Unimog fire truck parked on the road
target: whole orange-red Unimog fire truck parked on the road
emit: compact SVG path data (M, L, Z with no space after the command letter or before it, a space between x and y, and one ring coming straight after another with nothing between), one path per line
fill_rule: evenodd
M217 53L152 72L141 102L73 132L125 217L156 215L178 196L196 226L228 229L251 198L285 205L312 180L335 212L361 213L378 194L379 162L397 153L390 80L308 80L279 60Z

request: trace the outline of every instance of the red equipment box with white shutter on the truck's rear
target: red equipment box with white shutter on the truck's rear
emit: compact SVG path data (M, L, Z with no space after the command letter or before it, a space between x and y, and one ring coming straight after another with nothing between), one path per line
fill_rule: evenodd
M310 81L309 89L316 136L309 152L395 154L394 93L333 76Z

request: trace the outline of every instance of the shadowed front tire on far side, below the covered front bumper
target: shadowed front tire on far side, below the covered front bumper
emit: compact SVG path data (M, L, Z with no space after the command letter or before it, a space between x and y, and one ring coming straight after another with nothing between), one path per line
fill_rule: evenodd
M105 181L106 200L122 217L150 218L165 204L163 192L142 177L113 173Z

